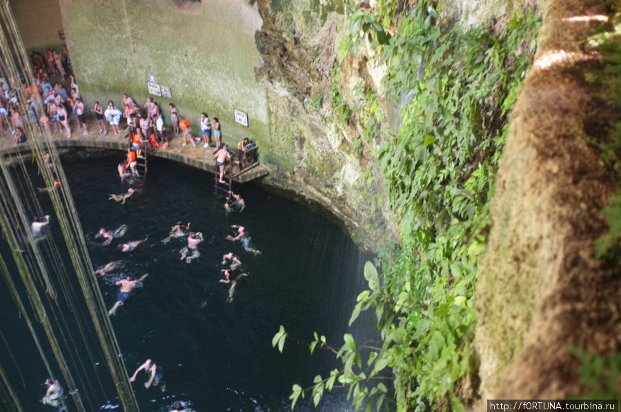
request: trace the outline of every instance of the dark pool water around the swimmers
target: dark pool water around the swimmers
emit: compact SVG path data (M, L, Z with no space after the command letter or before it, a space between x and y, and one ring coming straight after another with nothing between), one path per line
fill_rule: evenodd
M311 357L307 347L293 342L287 342L281 355L271 347L272 336L284 325L301 340L310 342L318 331L340 347L355 297L364 288L362 267L369 256L323 216L257 186L237 186L248 206L242 214L226 214L213 194L211 175L159 159L150 159L148 178L132 185L138 193L125 205L107 200L108 194L129 187L117 176L121 158L115 154L65 161L63 166L93 264L125 260L124 274L150 275L112 317L129 373L146 358L164 368L165 393L145 389L144 372L133 384L141 410L168 411L183 400L196 411L289 411L293 383L308 387L317 373L325 376L339 364L321 351ZM44 196L41 203L46 205ZM201 256L190 264L179 260L186 240L160 243L178 220L190 222L206 240L199 246ZM121 224L129 227L124 238L108 246L95 239L99 227ZM253 247L262 254L253 256L224 240L233 234L233 224L248 228ZM58 235L58 225L52 222L50 229ZM129 254L116 250L121 241L145 236L146 245ZM228 285L218 282L221 256L228 251L241 258L249 274L239 281L230 303ZM99 283L108 308L116 300L113 280ZM9 308L10 298L2 297ZM46 371L36 351L26 352L32 349L28 333L12 307L0 320L5 335L6 325L15 325L16 339L23 341L14 356L25 381L24 388L21 383L17 387L26 410L52 411L39 403ZM373 334L372 321L358 320L355 326L360 340ZM10 363L6 358L0 362ZM345 395L326 395L317 410L351 410ZM102 407L118 405L108 396L109 404L101 402ZM315 409L306 400L296 410Z

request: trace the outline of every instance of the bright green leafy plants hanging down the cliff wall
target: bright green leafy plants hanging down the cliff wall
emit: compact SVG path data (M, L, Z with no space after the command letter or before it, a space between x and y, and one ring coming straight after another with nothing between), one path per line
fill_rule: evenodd
M527 14L513 17L498 36L460 26L443 32L433 2L418 1L398 21L394 3L378 1L377 15L350 10L342 41L342 56L369 41L387 65L384 98L409 103L402 105L397 136L377 150L401 238L380 251L381 279L365 265L368 290L350 320L373 307L382 347L363 352L346 335L337 380L349 387L356 408L366 402L371 410L377 396L379 409L388 388L371 382L390 368L397 411L462 410L455 383L471 367L477 259L491 225L495 167L540 23ZM373 106L377 96L357 89L365 107L373 107L369 121L383 119ZM317 345L326 348L315 336L311 348ZM315 378L313 400L326 382Z

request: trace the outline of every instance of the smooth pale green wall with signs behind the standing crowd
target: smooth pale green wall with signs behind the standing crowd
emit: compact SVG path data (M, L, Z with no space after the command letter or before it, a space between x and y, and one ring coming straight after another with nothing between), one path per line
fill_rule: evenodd
M68 47L87 105L119 103L123 93L139 103L147 81L170 87L172 99L154 96L170 125L168 103L190 120L201 112L221 123L224 141L244 136L259 145L269 135L266 92L255 81L259 59L254 34L262 19L244 0L209 2L88 1L61 3ZM249 127L235 122L234 109Z

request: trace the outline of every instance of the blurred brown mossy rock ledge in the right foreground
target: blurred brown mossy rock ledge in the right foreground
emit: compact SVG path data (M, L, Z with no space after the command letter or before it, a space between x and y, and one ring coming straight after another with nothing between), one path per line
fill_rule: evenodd
M538 54L517 98L491 202L493 229L477 284L475 346L482 399L567 399L589 391L571 346L606 355L621 348L618 267L595 259L607 230L600 214L618 178L584 136L598 107L588 59L589 27L564 16L604 14L600 1L551 0ZM605 110L600 106L600 110Z

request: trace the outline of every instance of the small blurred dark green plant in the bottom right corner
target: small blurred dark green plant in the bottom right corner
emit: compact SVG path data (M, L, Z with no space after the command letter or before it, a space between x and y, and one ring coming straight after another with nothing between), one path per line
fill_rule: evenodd
M570 347L569 353L580 360L580 382L592 390L583 399L619 399L621 392L618 380L621 371L621 353L609 356L593 355L577 347Z

